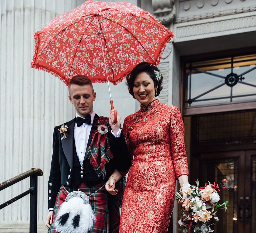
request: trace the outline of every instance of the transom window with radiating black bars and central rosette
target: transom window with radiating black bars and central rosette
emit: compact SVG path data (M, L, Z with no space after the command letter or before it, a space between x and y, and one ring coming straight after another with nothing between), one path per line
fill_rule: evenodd
M256 55L186 64L185 107L256 99Z

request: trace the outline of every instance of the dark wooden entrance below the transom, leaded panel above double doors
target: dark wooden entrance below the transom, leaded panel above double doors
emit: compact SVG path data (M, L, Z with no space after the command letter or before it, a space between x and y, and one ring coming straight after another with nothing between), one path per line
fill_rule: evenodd
M190 180L220 183L227 179L229 190L221 189L216 233L256 233L256 110L184 117L191 129Z

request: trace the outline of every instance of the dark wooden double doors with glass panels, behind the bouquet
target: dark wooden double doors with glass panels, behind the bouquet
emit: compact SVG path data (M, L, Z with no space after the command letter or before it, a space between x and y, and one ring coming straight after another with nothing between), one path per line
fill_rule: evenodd
M200 153L194 158L191 180L219 183L227 179L219 193L221 202L229 200L227 212L218 211L213 226L218 233L256 233L256 150Z

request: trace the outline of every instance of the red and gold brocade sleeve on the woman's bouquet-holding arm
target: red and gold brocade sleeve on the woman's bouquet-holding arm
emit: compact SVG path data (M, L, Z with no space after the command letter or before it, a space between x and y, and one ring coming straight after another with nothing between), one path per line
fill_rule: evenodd
M184 123L177 107L172 109L170 121L170 143L175 177L188 175L188 161L184 142Z

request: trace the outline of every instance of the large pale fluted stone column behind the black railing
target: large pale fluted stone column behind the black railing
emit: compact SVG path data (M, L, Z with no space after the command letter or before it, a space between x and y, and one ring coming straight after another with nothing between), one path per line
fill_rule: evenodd
M30 68L34 33L73 0L0 1L0 182L39 167L38 232L45 232L47 180L55 125L74 116L67 87L56 77ZM29 188L29 179L0 192L1 203ZM0 232L28 232L29 196L0 211ZM45 229L45 230L40 230Z

